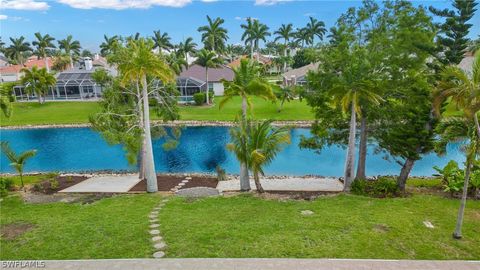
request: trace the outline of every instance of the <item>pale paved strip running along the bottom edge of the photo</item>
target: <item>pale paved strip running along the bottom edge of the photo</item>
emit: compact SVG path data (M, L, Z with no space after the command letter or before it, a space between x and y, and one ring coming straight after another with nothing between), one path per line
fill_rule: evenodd
M330 259L125 259L44 261L41 269L163 270L478 270L480 261L330 260ZM5 267L2 269L15 269ZM10 262L8 262L10 263ZM31 262L30 262L31 263ZM39 267L17 267L39 269Z

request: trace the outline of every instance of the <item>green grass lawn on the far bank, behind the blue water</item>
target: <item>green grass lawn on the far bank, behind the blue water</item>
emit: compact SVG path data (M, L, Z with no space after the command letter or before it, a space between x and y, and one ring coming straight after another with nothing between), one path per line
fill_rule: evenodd
M223 120L233 121L240 111L240 98L233 99L222 110L218 108L221 97L217 97L217 105L212 107L180 106L181 120ZM278 103L279 104L279 103ZM294 100L286 103L278 112L278 104L253 98L254 116L258 119L275 120L312 120L313 113L306 102ZM0 114L1 126L42 125L42 124L80 124L88 123L89 115L99 110L96 102L17 102L13 104L13 115L10 119ZM156 117L152 114L152 118Z

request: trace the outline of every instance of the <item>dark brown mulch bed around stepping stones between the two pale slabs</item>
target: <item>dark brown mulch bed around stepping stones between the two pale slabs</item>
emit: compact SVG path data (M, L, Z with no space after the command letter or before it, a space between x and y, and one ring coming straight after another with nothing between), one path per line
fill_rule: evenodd
M185 179L185 176L176 176L176 175L157 175L157 186L159 191L170 191L170 189L177 186L182 180ZM193 176L188 183L185 184L183 188L192 188L192 187L217 187L218 180L214 177L200 177ZM142 180L138 182L130 192L145 192L147 191L147 182Z

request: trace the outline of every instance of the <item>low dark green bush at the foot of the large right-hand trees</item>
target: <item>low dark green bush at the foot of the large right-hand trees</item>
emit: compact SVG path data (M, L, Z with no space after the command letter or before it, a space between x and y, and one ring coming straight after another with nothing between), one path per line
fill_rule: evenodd
M397 182L389 177L380 177L377 180L355 180L351 191L357 195L370 197L395 197L399 194Z

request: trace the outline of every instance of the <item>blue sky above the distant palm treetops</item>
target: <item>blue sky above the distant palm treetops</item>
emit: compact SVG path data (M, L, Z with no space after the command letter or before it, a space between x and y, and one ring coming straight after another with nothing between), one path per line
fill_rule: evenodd
M449 8L449 0L414 1L415 5ZM172 42L193 37L200 44L197 28L206 24L206 16L222 17L230 37L240 43L246 17L259 19L272 32L282 23L303 27L312 16L324 21L327 29L349 7L361 1L300 0L0 0L0 36L25 36L33 40L35 32L58 39L67 35L80 41L84 49L97 52L103 35L128 36L139 32L150 36L154 30L167 32ZM477 7L480 9L480 5ZM470 38L480 35L480 11L470 21Z

